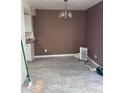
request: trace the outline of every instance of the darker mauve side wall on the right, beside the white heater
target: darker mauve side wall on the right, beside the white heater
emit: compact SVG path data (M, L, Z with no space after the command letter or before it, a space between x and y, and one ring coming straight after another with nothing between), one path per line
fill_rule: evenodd
M103 2L86 11L86 46L89 57L103 65Z

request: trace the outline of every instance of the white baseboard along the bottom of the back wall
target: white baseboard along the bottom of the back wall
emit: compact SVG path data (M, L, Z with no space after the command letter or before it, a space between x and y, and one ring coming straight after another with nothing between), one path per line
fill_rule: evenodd
M38 55L38 56L34 56L34 58L66 57L66 56L74 56L74 55L75 54Z

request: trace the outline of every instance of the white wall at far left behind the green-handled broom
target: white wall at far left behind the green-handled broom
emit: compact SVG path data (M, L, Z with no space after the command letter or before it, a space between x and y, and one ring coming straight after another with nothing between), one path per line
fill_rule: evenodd
M24 23L24 10L31 12L30 3L28 0L21 0L21 39L23 41L24 50L26 52L26 43L25 43L25 23ZM24 83L24 80L26 79L26 68L24 63L24 57L23 54L21 54L21 84Z

